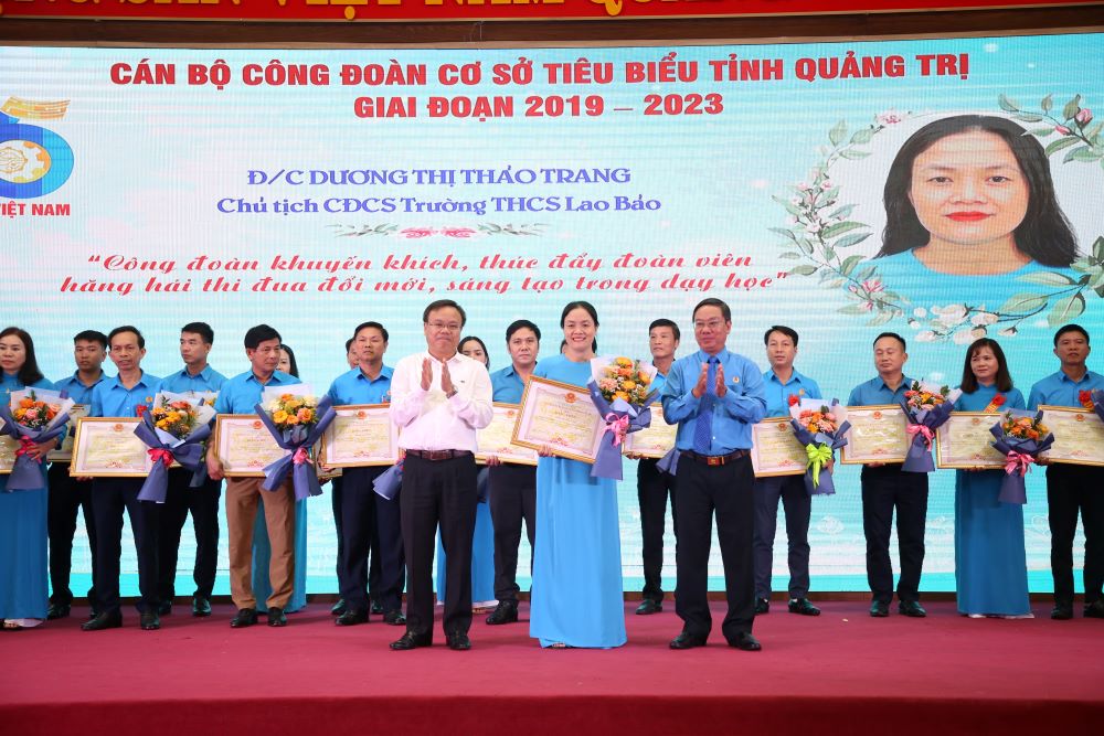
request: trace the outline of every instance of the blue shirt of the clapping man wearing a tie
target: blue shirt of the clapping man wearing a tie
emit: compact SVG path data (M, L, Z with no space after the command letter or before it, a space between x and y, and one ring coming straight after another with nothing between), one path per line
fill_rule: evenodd
M728 391L723 397L713 402L713 439L709 454L729 455L734 450L751 449L751 426L766 415L766 396L763 392L763 374L755 363L743 355L729 352L728 349L722 349L716 356L724 370ZM675 361L664 384L664 418L667 424L678 423L676 446L681 451L693 449L694 425L701 399L694 398L691 391L698 385L701 364L708 360L709 355L699 350Z

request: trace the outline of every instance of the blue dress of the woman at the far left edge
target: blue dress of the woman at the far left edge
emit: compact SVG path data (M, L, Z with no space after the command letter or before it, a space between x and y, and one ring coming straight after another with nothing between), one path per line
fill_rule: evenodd
M49 381L33 388L52 390ZM0 374L0 401L22 391L14 375ZM0 476L0 619L46 618L50 587L46 576L46 463L42 488L9 491L8 476Z

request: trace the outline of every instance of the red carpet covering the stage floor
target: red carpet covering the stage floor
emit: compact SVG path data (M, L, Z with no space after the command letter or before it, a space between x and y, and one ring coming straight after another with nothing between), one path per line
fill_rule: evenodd
M232 610L160 631L85 633L85 610L0 633L0 734L1089 734L1104 724L1104 621L871 619L866 604L819 618L774 604L763 651L719 631L675 652L673 604L631 615L612 651L541 650L528 623L473 626L474 648L392 652L401 628L335 627L312 604L286 629L235 631ZM1080 606L1079 606L1080 612ZM183 615L181 615L183 614ZM522 617L528 607L522 607ZM721 619L714 604L714 626ZM438 623L439 626L439 623Z

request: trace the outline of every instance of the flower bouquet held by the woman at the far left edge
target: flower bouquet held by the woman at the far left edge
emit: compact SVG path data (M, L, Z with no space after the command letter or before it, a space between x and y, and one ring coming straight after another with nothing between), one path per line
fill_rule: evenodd
M45 488L43 456L35 457L30 452L35 445L65 434L65 423L68 422L68 410L72 407L73 399L62 398L60 392L42 388L13 392L11 405L0 405L0 419L3 419L0 434L19 441L15 463L8 477L9 491Z

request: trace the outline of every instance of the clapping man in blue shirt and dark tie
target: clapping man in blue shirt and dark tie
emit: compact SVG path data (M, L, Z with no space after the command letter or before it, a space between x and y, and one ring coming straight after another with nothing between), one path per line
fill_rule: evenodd
M698 352L675 362L664 386L664 417L678 424L675 497L678 524L675 611L683 621L671 649L703 647L713 626L707 595L713 513L724 561L729 610L721 632L730 647L757 651L752 636L755 584L752 543L755 503L751 426L766 414L763 374L729 352L732 312L720 299L703 299L693 310Z

